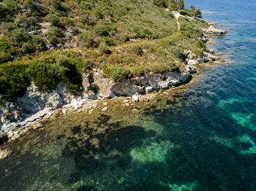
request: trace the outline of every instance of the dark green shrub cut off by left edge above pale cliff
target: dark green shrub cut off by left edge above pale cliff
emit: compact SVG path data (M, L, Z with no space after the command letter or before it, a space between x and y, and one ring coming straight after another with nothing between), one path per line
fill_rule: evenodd
M8 101L15 101L22 96L29 85L26 65L22 63L0 66L0 94Z

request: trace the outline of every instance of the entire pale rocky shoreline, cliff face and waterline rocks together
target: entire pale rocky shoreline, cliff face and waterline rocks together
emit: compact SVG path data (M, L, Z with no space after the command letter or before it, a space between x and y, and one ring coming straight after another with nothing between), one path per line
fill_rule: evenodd
M207 35L224 35L226 31L216 28L210 23L210 27L204 31L203 41L208 42ZM173 71L166 74L147 74L144 77L132 77L121 82L113 82L103 77L102 71L94 70L90 74L83 75L83 88L86 90L79 96L67 93L64 83L59 83L57 89L50 93L40 92L32 83L27 88L25 95L18 98L14 104L7 101L0 107L0 144L4 141L13 141L26 134L29 128L42 128L38 122L42 118L48 118L55 112L65 114L67 110L74 109L81 112L89 110L89 115L97 108L97 102L104 99L129 96L130 101L149 101L154 90L166 90L171 87L183 85L192 79L192 74L197 72L196 66L200 63L208 63L219 60L213 50L204 52L203 56L194 55L191 51L185 51L187 59L184 61L185 69L181 72ZM96 87L95 92L89 90L91 84ZM127 101L128 102L128 101ZM125 104L128 103L124 103ZM102 112L108 110L108 103ZM0 159L8 157L10 153L1 151Z

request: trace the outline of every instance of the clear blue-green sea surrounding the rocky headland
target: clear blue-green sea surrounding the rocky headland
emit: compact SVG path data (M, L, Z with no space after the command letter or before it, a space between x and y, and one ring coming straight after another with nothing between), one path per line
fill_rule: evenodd
M67 139L31 137L0 161L0 190L256 190L256 1L186 4L233 28L210 45L230 64L203 69L132 125L102 115Z

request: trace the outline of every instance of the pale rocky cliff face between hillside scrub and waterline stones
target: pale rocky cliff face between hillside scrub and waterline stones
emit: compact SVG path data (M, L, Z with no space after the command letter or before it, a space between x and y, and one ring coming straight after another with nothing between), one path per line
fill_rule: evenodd
M215 30L215 29L214 29ZM212 31L212 28L209 29ZM220 34L220 31L217 32ZM207 39L207 36L204 36ZM105 78L103 72L94 70L90 74L83 74L83 89L80 95L70 95L63 82L60 82L56 90L42 92L37 89L34 83L27 88L25 95L18 98L13 104L0 99L0 136L20 127L30 125L39 118L50 116L53 109L72 107L79 109L86 101L99 98L114 98L116 96L132 96L134 101L140 100L140 94L151 93L154 90L168 89L189 82L192 74L196 73L198 63L216 61L214 51L207 50L203 56L193 54L185 50L187 60L184 61L184 69L181 72L173 71L166 74L146 74L143 77L132 77L114 82ZM107 108L108 109L108 108Z

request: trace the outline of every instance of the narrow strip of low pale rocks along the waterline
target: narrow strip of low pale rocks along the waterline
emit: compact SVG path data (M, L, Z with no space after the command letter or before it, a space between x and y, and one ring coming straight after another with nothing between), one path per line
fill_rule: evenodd
M211 27L214 28L214 31L212 31L213 29L210 30L210 37L211 37L211 31L214 33L214 36L217 36L217 34L219 33L219 35L223 35L223 30L215 28L215 27ZM207 34L207 33L206 33ZM208 37L209 36L203 36L203 40L206 40L206 42L208 41ZM194 55L191 55L190 52L187 52L187 64L186 64L186 68L187 71L183 71L181 72L184 73L184 75L179 75L178 77L176 77L176 79L178 79L178 82L173 82L173 84L168 85L168 83L170 82L170 80L173 80L173 74L157 74L157 80L158 82L160 82L160 85L162 85L162 87L149 87L148 90L146 90L145 95L143 94L139 94L139 93L132 93L132 94L128 94L127 96L121 95L121 96L113 96L113 98L110 98L110 100L116 101L116 100L123 100L124 103L122 104L122 106L130 106L131 104L136 104L136 102L148 102L151 99L154 99L154 97L157 96L157 93L151 93L153 91L162 91L162 90L167 90L167 89L173 89L173 87L177 87L180 85L184 85L187 84L191 79L192 79L192 74L196 73L196 67L206 63L217 63L220 58L217 58L217 55L215 55L216 52L212 51L212 50L207 50L206 52L204 52L204 56L200 57L200 58L195 58ZM203 63L203 64L202 64ZM170 77L170 80L168 79L168 75ZM156 78L154 78L155 76L152 77L152 79L155 79L155 82L157 81ZM167 80L166 80L167 78ZM137 78L137 79L145 79L145 77L141 77L141 78ZM165 79L164 80L159 80L159 79ZM129 79L130 80L130 79ZM169 82L168 82L169 80ZM131 82L131 81L129 81ZM163 83L165 82L165 83ZM137 83L135 81L135 83ZM127 84L127 82L124 82L124 84ZM144 89L146 89L144 87ZM89 93L90 94L90 93ZM91 98L90 98L91 96ZM20 136L25 136L26 133L29 130L42 130L43 126L42 125L42 121L43 120L48 120L50 117L54 116L54 115L58 115L58 114L67 114L67 112L72 111L72 112L84 112L86 111L86 113L91 116L91 114L93 114L94 111L99 110L98 106L99 104L102 104L102 108L100 107L100 110L102 112L108 112L109 110L109 106L108 106L108 98L104 98L103 96L97 96L97 98L95 98L94 94L91 93L90 95L88 95L87 98L75 98L75 96L70 97L69 103L68 104L64 104L62 106L59 106L59 108L53 109L52 107L48 108L45 107L45 109L40 110L39 112L37 112L36 114L31 115L30 117L26 118L25 120L21 121L21 122L9 122L9 124L7 126L5 126L5 128L1 129L1 133L0 133L0 142L1 144L3 144L4 142L7 141L15 141L16 139L19 139ZM104 103L103 103L104 102ZM128 105L127 105L128 104ZM138 112L138 111L134 111L134 112ZM3 125L4 126L4 125ZM1 152L0 152L1 153ZM2 156L4 157L8 157L11 155L10 152L6 151L3 152L4 154L2 154ZM2 158L4 158L2 157ZM0 157L1 158L1 157Z

